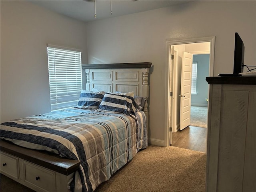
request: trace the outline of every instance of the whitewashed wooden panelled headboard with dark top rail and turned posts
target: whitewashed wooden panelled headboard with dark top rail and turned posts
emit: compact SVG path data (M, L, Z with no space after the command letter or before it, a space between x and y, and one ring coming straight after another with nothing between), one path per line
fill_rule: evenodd
M152 63L149 62L82 64L86 72L86 90L95 88L106 92L123 93L133 91L134 95L145 98L143 111L148 119L148 74L151 66Z

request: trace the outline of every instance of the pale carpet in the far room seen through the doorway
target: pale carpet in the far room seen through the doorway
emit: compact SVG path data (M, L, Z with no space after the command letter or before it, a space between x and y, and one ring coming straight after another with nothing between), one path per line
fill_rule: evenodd
M207 107L191 106L190 125L207 127Z

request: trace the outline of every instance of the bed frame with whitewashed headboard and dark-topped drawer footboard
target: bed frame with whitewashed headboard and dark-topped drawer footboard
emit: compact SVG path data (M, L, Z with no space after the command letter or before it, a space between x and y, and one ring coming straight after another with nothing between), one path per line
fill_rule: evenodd
M148 74L152 63L83 64L86 90L134 92L146 99L148 129ZM1 174L37 192L70 192L68 182L80 162L49 152L30 150L1 140Z

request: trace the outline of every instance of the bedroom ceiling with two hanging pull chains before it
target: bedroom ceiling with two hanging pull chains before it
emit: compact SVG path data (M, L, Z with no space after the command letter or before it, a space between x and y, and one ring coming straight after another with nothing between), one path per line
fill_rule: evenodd
M94 0L32 0L33 4L42 6L59 14L84 22L133 14L162 7L183 4L186 0L96 0L96 18ZM110 14L112 5L112 15Z

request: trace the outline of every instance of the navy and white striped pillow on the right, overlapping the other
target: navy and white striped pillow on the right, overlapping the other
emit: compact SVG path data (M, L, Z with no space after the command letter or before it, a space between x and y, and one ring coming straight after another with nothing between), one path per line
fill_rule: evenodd
M130 115L136 112L134 93L105 93L99 109Z

